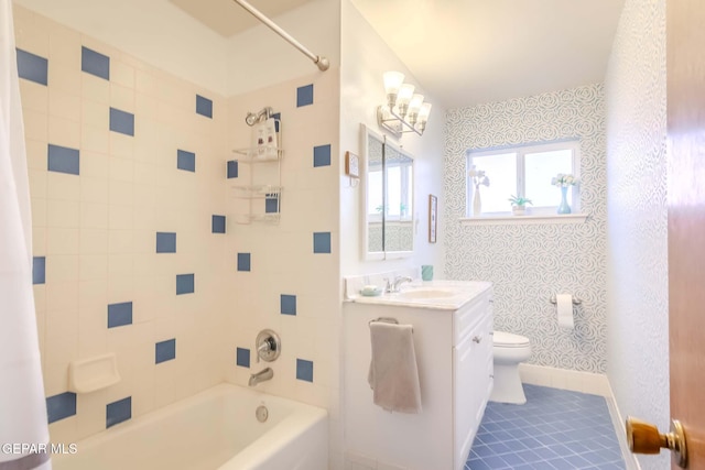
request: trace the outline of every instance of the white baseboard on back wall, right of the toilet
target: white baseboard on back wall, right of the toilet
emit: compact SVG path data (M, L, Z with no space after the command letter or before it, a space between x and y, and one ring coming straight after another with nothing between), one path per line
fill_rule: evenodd
M611 396L609 381L605 374L534 364L519 364L519 374L523 383L531 385Z

